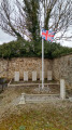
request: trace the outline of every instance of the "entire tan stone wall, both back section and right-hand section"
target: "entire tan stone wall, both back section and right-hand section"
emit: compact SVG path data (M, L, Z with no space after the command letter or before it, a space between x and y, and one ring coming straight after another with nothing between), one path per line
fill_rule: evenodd
M60 78L63 78L67 86L72 87L72 54L55 60L45 58L44 68L45 78L47 78L47 70L52 70L54 79L60 80ZM19 72L20 79L24 79L24 72L28 72L29 79L31 79L33 70L37 70L39 79L40 72L42 70L42 58L15 57L11 61L0 58L0 77L8 77L9 79L13 79L14 73Z

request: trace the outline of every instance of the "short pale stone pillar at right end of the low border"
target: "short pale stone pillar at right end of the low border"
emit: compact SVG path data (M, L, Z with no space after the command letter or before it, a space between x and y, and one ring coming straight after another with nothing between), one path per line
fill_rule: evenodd
M60 79L60 98L62 100L66 99L66 83L64 83L64 79Z

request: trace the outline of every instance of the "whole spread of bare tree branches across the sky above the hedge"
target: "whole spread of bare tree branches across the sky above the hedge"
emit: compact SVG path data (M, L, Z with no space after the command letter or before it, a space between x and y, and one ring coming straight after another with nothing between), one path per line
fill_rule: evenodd
M35 22L38 27L34 26ZM71 24L72 0L23 0L23 3L16 0L14 8L10 0L2 0L0 5L1 29L17 38L25 38L26 35L29 39L37 39L33 32L37 36L41 26L45 29L53 28L56 32L61 31L62 38Z

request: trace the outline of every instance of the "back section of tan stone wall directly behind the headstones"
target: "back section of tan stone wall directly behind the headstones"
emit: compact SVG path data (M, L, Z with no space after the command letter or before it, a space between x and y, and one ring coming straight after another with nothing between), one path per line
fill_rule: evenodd
M47 70L52 70L52 61L44 60L45 78L47 78ZM5 72L3 72L6 69ZM9 60L0 60L0 77L14 78L14 73L19 72L20 79L24 79L24 72L28 72L29 79L32 78L32 72L37 72L38 79L42 70L42 60L38 57L17 57ZM1 73L3 72L3 73Z

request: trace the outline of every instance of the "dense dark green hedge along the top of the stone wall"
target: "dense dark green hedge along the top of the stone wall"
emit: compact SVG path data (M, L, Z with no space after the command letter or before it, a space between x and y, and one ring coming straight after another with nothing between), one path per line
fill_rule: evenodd
M35 44L35 48L34 48ZM38 46L39 44L39 46ZM61 55L72 53L72 48L62 47L60 43L44 41L44 57L55 58ZM0 46L0 58L12 57L41 57L42 56L42 42L37 43L33 41L16 40Z

